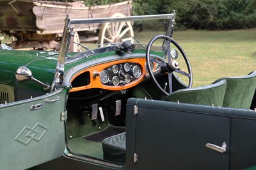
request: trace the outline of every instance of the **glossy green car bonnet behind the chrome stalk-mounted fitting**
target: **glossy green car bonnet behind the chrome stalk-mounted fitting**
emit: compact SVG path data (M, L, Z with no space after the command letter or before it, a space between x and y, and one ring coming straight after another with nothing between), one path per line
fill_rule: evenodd
M57 55L56 55L57 54ZM43 91L42 86L35 82L17 82L15 72L19 66L28 66L36 79L51 84L56 68L57 52L25 51L25 50L1 50L0 53L0 84L6 84L10 88L29 89Z

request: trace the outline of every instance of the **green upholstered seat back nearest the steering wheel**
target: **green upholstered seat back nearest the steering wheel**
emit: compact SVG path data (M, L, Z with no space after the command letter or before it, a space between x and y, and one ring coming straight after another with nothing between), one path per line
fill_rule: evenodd
M190 89L179 89L168 95L164 100L188 104L222 106L227 82L225 80Z

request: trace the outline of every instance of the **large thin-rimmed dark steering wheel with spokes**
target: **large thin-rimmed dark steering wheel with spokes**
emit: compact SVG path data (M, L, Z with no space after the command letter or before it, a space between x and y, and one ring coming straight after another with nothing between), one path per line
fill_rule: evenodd
M188 60L188 56L186 55L186 53L184 52L182 47L180 47L179 43L177 43L175 40L173 40L173 38L171 38L170 36L166 36L166 35L157 35L154 38L152 38L150 40L150 42L148 42L147 51L146 51L146 64L147 64L148 73L149 73L151 79L156 84L157 88L159 88L161 90L161 92L164 93L164 95L170 95L170 93L166 92L160 86L160 84L157 82L156 77L154 76L154 73L153 73L152 69L150 68L150 49L152 47L152 44L156 40L159 40L159 39L164 39L166 41L166 43L167 43L167 60L168 60L168 62L165 63L165 64L166 64L166 68L167 68L167 71L168 71L168 82L169 82L169 91L170 91L170 93L172 93L172 74L173 74L173 72L181 73L182 75L185 75L186 77L188 77L188 79L189 79L188 88L191 88L192 84L193 84L193 75L192 75L191 65L190 65L189 60ZM175 60L172 61L172 59L170 57L170 44L171 43L173 45L175 45L175 47L177 47L177 49L179 49L180 53L182 54L182 57L186 61L186 65L188 67L188 72L189 73L183 72L183 71L181 71L179 69L177 69L177 70L170 69L170 67L173 64L173 61L175 61ZM179 65L179 63L178 63L178 65ZM162 70L162 69L160 69L160 70ZM181 81L179 79L179 77L177 77L177 79L178 79L178 81Z

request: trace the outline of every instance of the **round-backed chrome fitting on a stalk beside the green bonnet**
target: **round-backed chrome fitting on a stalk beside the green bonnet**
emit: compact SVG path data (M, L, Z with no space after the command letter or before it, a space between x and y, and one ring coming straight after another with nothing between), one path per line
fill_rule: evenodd
M48 82L44 83L44 82L40 82L37 79L35 79L32 75L31 70L29 70L26 66L20 66L17 69L15 76L16 76L17 81L25 82L25 81L31 80L31 81L36 82L40 86L43 86L44 90L47 90L50 88L50 85Z

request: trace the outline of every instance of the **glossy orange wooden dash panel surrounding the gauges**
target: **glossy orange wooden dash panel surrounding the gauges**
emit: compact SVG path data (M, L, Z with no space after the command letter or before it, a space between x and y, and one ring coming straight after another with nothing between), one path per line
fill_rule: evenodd
M121 90L121 89L128 89L128 88L132 88L133 86L136 86L137 84L139 84L141 81L143 81L145 74L147 73L145 70L145 62L146 59L145 58L132 58L132 59L122 59L122 60L118 60L118 61L111 61L108 63L104 63L104 64L100 64L100 65L95 65L92 66L90 68L86 68L84 70L82 70L81 72L77 73L71 80L74 81L74 79L76 79L76 77L78 75L81 75L81 73L84 72L90 72L90 84L86 85L86 86L81 86L81 87L76 87L76 88L72 88L70 90L70 92L74 92L74 91L81 91L84 89L92 89L92 88L100 88L100 89L111 89L111 90ZM127 84L125 84L124 86L106 86L104 84L102 84L102 82L100 81L100 77L93 77L93 72L97 71L97 72L102 72L102 70L104 70L105 68L107 68L108 66L112 66L112 65L118 65L120 63L136 63L137 65L140 65L141 67L141 75L138 79L136 79L135 81L129 82Z

